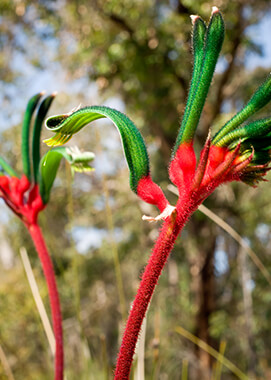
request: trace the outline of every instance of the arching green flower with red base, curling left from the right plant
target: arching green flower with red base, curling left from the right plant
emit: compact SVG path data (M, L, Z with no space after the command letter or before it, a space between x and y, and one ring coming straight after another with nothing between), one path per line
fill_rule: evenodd
M162 211L168 201L162 189L151 178L144 139L134 123L123 113L109 107L92 106L79 109L72 114L51 116L46 120L46 126L56 135L45 142L49 146L63 145L87 124L101 118L111 120L120 133L130 171L132 191L142 200L156 205Z

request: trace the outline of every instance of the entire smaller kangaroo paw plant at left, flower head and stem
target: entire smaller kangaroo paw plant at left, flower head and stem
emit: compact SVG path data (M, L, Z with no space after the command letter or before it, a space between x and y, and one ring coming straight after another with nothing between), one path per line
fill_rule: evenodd
M32 151L30 154L29 140L31 120L42 96L43 93L33 96L29 100L25 112L21 145L22 176L19 177L16 171L0 157L0 197L3 198L6 205L22 220L29 231L39 255L48 286L56 340L55 380L62 380L63 337L60 302L52 261L38 224L38 215L49 201L50 191L61 159L65 158L73 170L85 171L91 170L88 163L93 160L94 155L90 152L82 153L76 148L56 148L50 150L40 158L41 127L55 94L47 96L40 103L34 120Z

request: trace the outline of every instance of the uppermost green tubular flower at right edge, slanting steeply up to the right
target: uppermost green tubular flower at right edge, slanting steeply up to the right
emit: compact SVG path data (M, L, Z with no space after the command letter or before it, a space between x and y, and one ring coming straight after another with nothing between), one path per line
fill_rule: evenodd
M241 125L254 113L258 112L271 100L271 75L252 95L249 102L241 109L231 120L229 120L214 136L212 143L217 144L218 141L229 132Z

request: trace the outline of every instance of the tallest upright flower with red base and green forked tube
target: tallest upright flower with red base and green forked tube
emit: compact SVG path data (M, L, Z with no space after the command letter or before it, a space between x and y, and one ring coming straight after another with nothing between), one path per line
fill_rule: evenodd
M194 70L184 117L169 167L171 181L179 191L191 187L196 169L193 137L212 81L224 39L224 21L214 7L207 31L202 19L193 16Z

